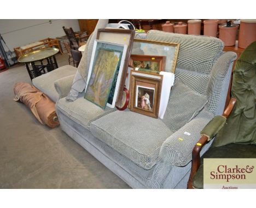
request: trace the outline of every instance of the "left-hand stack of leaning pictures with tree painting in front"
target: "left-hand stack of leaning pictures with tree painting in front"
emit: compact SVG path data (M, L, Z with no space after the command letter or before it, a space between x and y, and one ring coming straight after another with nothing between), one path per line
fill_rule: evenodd
M85 99L105 109L120 105L135 30L98 29L92 50Z

